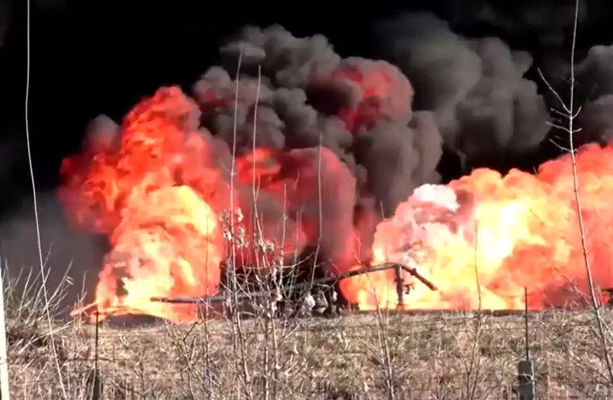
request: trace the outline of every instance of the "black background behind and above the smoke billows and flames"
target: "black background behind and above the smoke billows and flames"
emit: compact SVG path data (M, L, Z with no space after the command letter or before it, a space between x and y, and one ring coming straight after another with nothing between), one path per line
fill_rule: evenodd
M0 241L14 267L36 264L38 258L25 146L25 3L0 0L0 94L5 100L0 111ZM68 236L53 200L60 162L78 150L88 121L99 114L119 121L160 85L188 89L217 62L225 38L244 25L278 23L296 36L321 33L344 57L377 57L371 40L375 21L429 10L460 34L499 36L512 48L531 53L534 65L547 70L568 57L573 5L562 0L32 0L29 130L45 251L53 245L55 265L73 261L82 265L79 270L92 269L103 251L85 235ZM579 59L591 46L613 42L612 8L608 0L581 1ZM534 68L528 76L539 81ZM545 140L521 158L484 164L531 170L557 154ZM460 174L457 165L453 157L444 157L445 179Z

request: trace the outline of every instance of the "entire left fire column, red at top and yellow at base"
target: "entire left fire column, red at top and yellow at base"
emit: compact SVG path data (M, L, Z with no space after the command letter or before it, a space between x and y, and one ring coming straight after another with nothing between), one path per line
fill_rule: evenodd
M218 173L194 157L206 148L202 133L188 127L196 123L193 109L179 90L160 91L127 116L118 143L103 136L83 156L64 161L60 196L79 224L108 235L112 245L94 303L73 314L95 307L99 319L147 314L189 322L197 318L195 306L151 297L218 290L223 249L209 204L214 186L197 191Z

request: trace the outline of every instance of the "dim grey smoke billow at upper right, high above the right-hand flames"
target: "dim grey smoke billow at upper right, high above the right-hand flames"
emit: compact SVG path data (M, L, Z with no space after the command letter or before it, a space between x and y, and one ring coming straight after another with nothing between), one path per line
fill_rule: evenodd
M549 131L531 56L499 38L468 39L429 13L375 26L387 59L414 85L418 107L434 111L445 146L471 160L531 150Z

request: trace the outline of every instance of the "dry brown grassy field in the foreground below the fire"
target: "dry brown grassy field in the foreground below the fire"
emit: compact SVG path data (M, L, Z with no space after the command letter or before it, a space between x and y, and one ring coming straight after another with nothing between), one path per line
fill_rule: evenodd
M592 315L531 313L528 326L540 399L607 398ZM521 315L441 312L106 324L97 341L71 322L55 351L45 332L10 321L14 399L88 399L96 382L103 399L513 399L526 336Z

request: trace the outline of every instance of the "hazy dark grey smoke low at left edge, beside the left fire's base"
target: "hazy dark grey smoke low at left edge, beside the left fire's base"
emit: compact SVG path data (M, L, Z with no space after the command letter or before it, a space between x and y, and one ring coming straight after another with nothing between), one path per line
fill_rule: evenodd
M86 230L70 226L64 217L64 205L55 194L38 194L37 200L44 272L40 269L32 201L23 202L20 209L0 223L4 284L15 295L5 302L12 303L8 308L14 312L15 302L27 292L27 297L36 295L42 306L43 293L32 290L40 291L40 285L46 282L53 311L67 315L77 299L95 287L105 243Z

